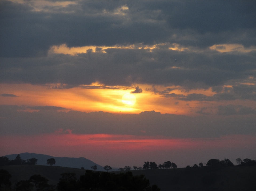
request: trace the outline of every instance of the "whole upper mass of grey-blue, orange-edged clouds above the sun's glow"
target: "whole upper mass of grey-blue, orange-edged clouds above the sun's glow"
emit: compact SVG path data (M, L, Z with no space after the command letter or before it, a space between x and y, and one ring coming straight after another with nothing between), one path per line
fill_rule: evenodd
M231 84L228 98L176 98L255 100L255 1L0 3L0 82L186 90ZM238 81L253 92L236 94Z

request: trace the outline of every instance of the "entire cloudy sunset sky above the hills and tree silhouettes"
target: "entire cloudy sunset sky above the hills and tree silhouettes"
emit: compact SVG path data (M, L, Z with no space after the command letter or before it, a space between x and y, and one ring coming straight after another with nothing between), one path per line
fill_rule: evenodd
M0 0L0 155L255 160L255 7Z

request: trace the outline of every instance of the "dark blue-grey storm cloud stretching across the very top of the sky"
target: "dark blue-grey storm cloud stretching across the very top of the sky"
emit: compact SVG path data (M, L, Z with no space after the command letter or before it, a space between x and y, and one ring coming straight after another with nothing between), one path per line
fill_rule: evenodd
M33 1L0 1L1 56L45 56L51 45L63 43L71 47L170 42L206 47L256 42L255 1L75 2L38 11Z

